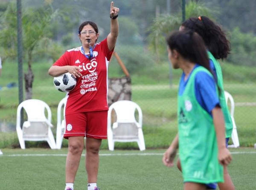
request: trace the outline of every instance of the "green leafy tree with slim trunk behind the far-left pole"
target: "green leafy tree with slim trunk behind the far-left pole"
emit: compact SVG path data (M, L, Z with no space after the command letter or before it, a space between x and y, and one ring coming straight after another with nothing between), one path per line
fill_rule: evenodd
M23 57L27 60L28 71L24 75L26 99L32 98L32 58L42 48L47 50L52 45L52 33L48 26L58 16L58 10L51 7L22 10ZM10 3L0 17L0 44L3 47L3 59L17 57L17 10L15 3ZM47 53L47 51L45 52Z

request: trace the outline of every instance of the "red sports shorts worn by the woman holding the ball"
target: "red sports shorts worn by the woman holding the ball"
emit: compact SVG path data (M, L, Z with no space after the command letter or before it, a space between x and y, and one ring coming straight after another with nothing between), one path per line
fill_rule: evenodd
M64 138L86 136L94 139L107 139L108 111L91 111L65 116Z

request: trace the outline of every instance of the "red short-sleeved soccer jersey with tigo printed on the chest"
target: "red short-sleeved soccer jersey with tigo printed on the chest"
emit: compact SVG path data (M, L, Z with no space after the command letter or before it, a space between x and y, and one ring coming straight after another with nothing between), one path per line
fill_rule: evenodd
M108 63L112 51L108 51L107 39L97 43L94 57L89 60L81 46L67 50L53 65L76 65L81 77L76 77L76 87L68 93L65 114L108 110Z

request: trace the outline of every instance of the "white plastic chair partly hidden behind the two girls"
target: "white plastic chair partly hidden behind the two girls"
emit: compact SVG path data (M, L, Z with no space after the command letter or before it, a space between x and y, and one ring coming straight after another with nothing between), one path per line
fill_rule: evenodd
M236 129L236 123L235 123L235 119L234 119L235 102L230 93L228 93L227 91L224 91L224 94L225 94L226 103L228 103L228 101L230 101L230 115L231 115L231 119L232 119L232 123L233 123L233 131L231 134L233 144L228 145L228 147L237 148L240 146L240 144L239 144L239 139L238 139L238 134L237 134L237 129Z

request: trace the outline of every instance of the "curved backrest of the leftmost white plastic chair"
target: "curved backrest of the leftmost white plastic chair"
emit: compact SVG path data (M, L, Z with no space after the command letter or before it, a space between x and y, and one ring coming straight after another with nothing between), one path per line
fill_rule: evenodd
M42 100L39 99L27 99L20 103L17 108L17 114L20 114L21 109L24 108L28 116L28 121L45 121L51 122L52 112L47 105ZM47 118L45 115L45 110L47 110Z

